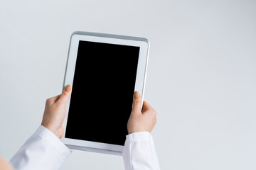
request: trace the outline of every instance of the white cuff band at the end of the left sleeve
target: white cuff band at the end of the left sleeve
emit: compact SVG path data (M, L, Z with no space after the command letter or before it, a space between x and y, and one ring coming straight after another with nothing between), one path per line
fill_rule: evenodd
M71 154L72 151L66 145L64 145L63 142L61 142L58 137L53 134L53 132L42 125L38 127L35 134L46 140L50 145L57 149L60 154L64 154L66 157Z

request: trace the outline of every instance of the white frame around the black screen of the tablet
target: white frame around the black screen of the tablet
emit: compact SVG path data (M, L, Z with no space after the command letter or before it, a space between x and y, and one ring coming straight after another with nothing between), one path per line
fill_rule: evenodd
M75 63L78 54L78 45L80 40L91 42L105 42L117 45L137 46L139 48L139 62L137 66L137 76L134 91L139 91L142 94L142 101L144 98L144 89L146 83L146 69L149 57L149 40L146 38L129 37L124 35L110 35L102 33L89 33L76 31L71 35L70 47L68 52L68 60L66 63L65 77L63 82L63 89L66 85L73 86L73 79L75 73ZM100 152L104 154L122 155L122 145L111 145L101 142L91 142L85 140L75 140L65 137L65 129L68 121L68 111L70 106L70 99L66 105L65 120L63 122L64 135L61 138L63 143L70 149L79 149L89 152Z

